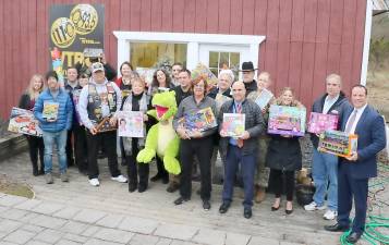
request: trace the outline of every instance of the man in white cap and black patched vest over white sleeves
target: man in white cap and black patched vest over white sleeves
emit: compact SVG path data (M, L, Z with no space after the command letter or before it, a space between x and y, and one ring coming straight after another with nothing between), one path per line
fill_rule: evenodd
M98 186L99 171L97 152L104 145L111 180L125 183L118 168L117 131L114 113L120 109L122 97L120 88L105 76L104 65L99 62L92 64L92 79L80 94L80 118L88 130L86 133L88 145L88 176L89 184Z

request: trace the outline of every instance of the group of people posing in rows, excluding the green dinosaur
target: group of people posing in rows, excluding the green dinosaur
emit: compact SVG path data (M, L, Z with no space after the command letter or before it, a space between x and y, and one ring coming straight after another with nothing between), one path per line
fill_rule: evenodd
M69 162L69 155L66 158L68 146L69 150L74 148L75 164L80 172L88 175L90 185L98 186L97 156L102 147L108 157L111 179L125 183L127 179L118 168L119 142L122 160L127 166L129 192L145 192L148 188L149 166L139 164L136 156L145 147L147 131L156 121L144 113L144 137L119 137L118 140L114 130L118 123L117 114L119 111L147 112L151 109L151 99L157 93L173 90L178 112L172 125L180 138L178 159L181 173L169 174L162 159L156 157L157 174L150 181L161 180L165 184L170 182L167 191L172 193L179 189L180 197L174 204L181 205L191 199L192 174L196 166L200 172L199 195L203 208L209 210L212 172L216 169L217 156L220 155L223 166L220 213L226 213L230 208L236 175L241 175L243 180L243 216L246 219L252 217L253 200L260 203L265 199L268 183L272 183L275 193L271 210L279 210L281 194L285 189L284 211L287 215L293 212L295 172L302 168L300 140L296 136L267 134L271 105L304 107L296 100L292 88L283 88L277 98L272 98L269 105L262 109L255 101L263 89L271 90L271 77L269 73L262 72L256 81L252 62L243 62L240 71L242 81L234 82L232 71L222 70L218 84L210 89L204 77L192 79L191 72L180 63L173 64L172 76L162 69L157 70L149 86L133 71L129 62L120 66L121 77L116 82L106 77L106 65L100 62L93 63L90 77L80 74L75 68L69 68L64 89L52 71L46 75L47 84L40 75L32 77L26 94L21 98L20 107L34 111L44 132L42 138L27 136L34 175L45 173L46 182L53 183L52 146L56 143L62 181L69 181L66 168L72 163ZM376 110L367 106L366 87L352 87L349 101L341 91L339 75L328 75L325 83L326 93L314 102L312 111L338 115L338 130L358 135L357 151L349 158L319 152L318 135L311 134L314 145L312 176L316 193L314 200L304 209L314 211L327 208L324 218L337 218L338 223L326 226L326 230L343 231L350 228L349 216L354 198L356 213L348 241L355 243L364 230L368 179L377 174L376 155L386 143L385 124ZM77 108L74 107L73 100L76 93ZM228 99L220 100L220 96ZM58 117L54 120L42 117L44 106L48 101L59 103ZM189 132L179 123L185 114L205 108L211 109L218 127ZM245 131L240 137L230 137L222 131L220 125L223 124L224 113L245 114ZM40 168L37 163L38 155Z

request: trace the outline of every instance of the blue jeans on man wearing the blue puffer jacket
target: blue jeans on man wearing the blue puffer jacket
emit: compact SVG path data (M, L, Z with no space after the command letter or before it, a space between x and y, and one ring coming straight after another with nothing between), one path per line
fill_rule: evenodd
M44 143L45 143L45 173L52 172L52 147L56 144L58 149L58 161L60 166L60 172L66 172L66 137L68 131L63 130L56 133L44 132Z

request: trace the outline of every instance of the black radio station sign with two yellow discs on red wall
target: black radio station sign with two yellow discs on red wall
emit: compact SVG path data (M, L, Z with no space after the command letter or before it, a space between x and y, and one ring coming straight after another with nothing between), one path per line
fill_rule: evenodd
M102 4L53 4L50 8L50 68L60 81L69 66L89 65L88 50L104 50Z

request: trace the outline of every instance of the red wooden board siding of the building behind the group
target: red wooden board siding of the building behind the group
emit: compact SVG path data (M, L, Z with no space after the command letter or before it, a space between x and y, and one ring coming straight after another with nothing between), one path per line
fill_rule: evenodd
M0 115L7 118L34 73L48 68L51 4L77 0L0 1ZM291 86L311 107L325 77L344 90L361 76L366 0L86 0L106 8L106 56L117 65L113 30L265 35L259 70L278 91Z

